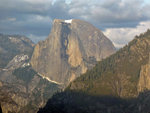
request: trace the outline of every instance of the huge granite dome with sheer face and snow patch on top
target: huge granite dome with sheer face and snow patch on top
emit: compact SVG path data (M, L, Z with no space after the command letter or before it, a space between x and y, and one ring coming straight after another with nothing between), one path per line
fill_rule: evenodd
M43 76L64 84L114 52L112 42L93 25L55 19L48 38L35 46L31 65Z

